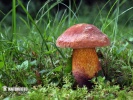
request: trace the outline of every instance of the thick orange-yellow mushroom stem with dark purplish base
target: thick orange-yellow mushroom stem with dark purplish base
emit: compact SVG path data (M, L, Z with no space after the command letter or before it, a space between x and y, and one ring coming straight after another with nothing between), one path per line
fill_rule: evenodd
M80 87L88 84L101 70L95 48L74 49L72 54L72 73Z

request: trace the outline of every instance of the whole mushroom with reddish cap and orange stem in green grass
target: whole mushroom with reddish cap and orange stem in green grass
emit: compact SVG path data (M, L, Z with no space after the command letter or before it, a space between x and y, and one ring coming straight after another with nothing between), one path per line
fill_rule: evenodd
M58 37L56 45L73 48L72 74L82 87L89 86L88 80L101 70L95 48L110 45L110 41L96 26L81 23L68 28Z

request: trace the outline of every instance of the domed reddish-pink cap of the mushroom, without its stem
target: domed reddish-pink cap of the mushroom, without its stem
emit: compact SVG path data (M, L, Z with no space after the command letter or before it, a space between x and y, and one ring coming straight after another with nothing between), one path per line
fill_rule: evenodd
M96 26L85 23L71 26L56 41L61 48L94 48L109 44L108 37Z

